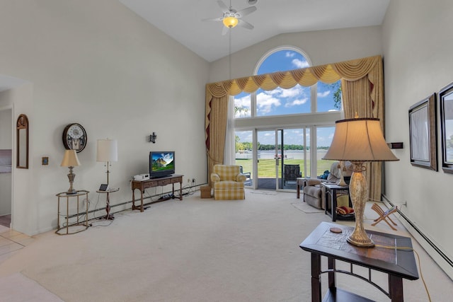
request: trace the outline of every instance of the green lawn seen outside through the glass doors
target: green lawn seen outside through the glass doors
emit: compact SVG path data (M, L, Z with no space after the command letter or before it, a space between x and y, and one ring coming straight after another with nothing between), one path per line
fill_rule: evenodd
M317 163L316 176L322 175L325 170L330 170L333 161L319 160ZM280 164L282 162L280 161ZM300 165L301 170L304 167L304 160L299 159L285 159L286 165ZM243 172L252 172L251 159L236 159L236 165L242 165ZM310 161L307 161L307 170L309 170ZM278 176L281 177L281 169L279 169ZM304 175L305 176L305 175ZM275 159L260 159L258 163L258 177L260 178L275 178ZM314 177L314 175L312 175Z

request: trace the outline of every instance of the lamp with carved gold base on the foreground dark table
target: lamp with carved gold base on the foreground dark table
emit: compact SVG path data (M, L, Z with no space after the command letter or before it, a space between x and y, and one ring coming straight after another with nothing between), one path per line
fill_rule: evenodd
M347 240L361 248L372 248L371 240L363 227L363 213L368 200L367 180L363 174L367 161L399 161L387 146L377 118L354 118L336 121L330 148L323 159L350 161L353 172L349 194L355 211L355 228ZM335 211L335 209L332 209Z

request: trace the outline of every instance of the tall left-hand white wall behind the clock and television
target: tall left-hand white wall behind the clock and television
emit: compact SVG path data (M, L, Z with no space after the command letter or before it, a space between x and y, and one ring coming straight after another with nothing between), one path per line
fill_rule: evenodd
M90 191L93 207L105 182L96 139L118 141L110 185L120 192L112 205L132 199L130 178L147 172L151 149L175 150L176 173L207 182L205 60L111 0L4 1L0 28L0 74L30 82L15 92L30 100L16 106L21 100L12 96L13 119L25 113L30 121L30 169L13 173L16 190L21 184L14 192L17 231L57 226L55 194L69 187L67 168L59 166L62 132L72 122L88 133L74 187ZM152 132L156 144L147 142ZM49 165L41 165L42 156Z

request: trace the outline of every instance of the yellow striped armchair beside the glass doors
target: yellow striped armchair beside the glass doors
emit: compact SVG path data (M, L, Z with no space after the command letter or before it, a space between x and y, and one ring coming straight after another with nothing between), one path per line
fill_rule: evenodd
M214 199L246 199L243 183L246 175L241 174L239 165L214 165L211 184L214 187Z

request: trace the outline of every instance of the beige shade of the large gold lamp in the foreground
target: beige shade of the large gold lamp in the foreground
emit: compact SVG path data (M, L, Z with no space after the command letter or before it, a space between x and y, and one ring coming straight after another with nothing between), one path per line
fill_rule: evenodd
M336 121L335 134L323 159L337 161L399 161L382 135L379 119Z

